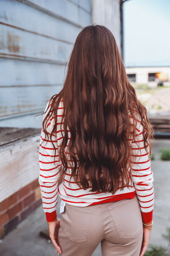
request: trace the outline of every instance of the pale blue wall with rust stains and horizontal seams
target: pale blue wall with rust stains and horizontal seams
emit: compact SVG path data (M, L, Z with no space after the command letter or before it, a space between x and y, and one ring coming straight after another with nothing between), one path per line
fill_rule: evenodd
M91 0L0 0L0 126L39 127L33 116L63 86L65 63Z

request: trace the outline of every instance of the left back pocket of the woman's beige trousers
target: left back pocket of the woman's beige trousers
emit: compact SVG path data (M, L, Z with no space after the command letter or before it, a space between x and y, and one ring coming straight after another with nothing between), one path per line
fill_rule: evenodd
M73 242L87 242L91 220L91 208L66 204L62 213L61 228Z

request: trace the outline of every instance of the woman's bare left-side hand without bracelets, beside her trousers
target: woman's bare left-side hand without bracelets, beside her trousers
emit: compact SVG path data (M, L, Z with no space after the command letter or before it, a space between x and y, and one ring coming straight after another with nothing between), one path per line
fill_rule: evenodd
M54 221L48 222L48 230L49 230L49 237L52 240L52 243L57 250L58 255L62 254L61 247L57 244L57 236L58 236L58 229L60 228L60 220L56 219Z

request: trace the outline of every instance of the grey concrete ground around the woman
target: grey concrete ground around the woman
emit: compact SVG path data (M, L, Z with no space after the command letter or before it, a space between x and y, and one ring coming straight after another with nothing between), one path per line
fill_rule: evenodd
M160 148L167 147L170 147L170 140L156 139L152 149L155 155L155 160L151 162L154 172L155 207L150 244L167 247L167 253L170 255L169 241L162 236L166 234L166 228L170 227L170 161L161 161L159 152ZM59 213L58 217L60 218ZM55 256L53 244L39 236L39 232L47 228L43 207L40 206L0 241L0 255ZM101 256L100 245L92 256Z

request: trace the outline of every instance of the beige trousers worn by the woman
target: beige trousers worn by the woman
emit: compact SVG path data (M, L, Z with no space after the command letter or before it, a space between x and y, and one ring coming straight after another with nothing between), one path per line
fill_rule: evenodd
M58 243L62 256L90 256L101 242L103 256L139 256L143 236L137 196L87 207L66 204Z

